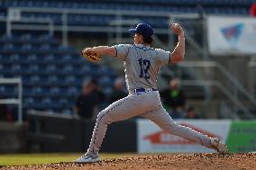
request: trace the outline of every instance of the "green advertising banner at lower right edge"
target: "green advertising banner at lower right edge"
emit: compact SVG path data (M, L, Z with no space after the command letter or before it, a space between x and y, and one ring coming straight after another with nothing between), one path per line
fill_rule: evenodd
M233 121L227 145L230 152L255 152L256 121Z

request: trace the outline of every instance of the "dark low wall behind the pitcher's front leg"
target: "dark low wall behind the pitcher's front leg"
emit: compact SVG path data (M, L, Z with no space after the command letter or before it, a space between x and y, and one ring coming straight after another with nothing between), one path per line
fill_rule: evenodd
M71 116L28 114L30 152L86 152L95 121ZM121 121L108 126L103 152L136 152L136 121Z

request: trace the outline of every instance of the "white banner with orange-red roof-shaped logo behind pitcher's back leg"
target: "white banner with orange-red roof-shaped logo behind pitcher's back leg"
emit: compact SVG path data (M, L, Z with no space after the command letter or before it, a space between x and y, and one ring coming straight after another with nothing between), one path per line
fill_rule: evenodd
M182 121L178 124L192 128L209 137L218 137L226 141L231 121ZM137 148L139 153L204 153L215 152L191 142L187 139L171 135L166 130L161 130L156 124L148 120L137 122Z

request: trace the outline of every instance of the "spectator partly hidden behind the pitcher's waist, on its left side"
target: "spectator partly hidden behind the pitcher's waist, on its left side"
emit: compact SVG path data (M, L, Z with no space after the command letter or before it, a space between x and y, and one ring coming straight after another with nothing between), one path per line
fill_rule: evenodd
M124 91L124 85L125 84L122 76L115 79L114 89L112 94L110 94L110 103L114 103L115 101L118 101L119 99L127 96L127 93Z

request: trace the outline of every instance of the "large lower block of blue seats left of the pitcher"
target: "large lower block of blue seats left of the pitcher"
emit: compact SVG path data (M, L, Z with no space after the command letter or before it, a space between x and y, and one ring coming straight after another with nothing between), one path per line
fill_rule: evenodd
M78 50L59 45L49 35L0 38L0 77L22 77L24 109L71 113L84 78L92 76L106 95L112 92L114 70L88 63ZM16 85L0 84L1 98L17 94Z

